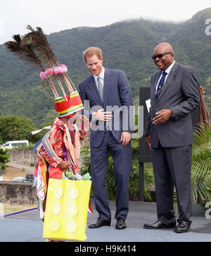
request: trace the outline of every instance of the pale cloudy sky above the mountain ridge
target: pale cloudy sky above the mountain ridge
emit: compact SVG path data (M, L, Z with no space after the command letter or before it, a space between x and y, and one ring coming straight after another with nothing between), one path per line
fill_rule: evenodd
M180 22L211 7L210 0L1 0L0 4L0 44L10 40L11 35L27 33L28 24L50 34L136 18Z

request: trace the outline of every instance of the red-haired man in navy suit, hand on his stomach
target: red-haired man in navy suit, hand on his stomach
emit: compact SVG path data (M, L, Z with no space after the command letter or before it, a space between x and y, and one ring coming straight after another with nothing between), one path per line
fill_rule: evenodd
M115 228L126 228L129 211L128 185L132 169L132 128L129 106L133 105L132 92L123 71L103 68L101 49L89 47L84 51L84 61L91 72L79 83L79 95L84 102L84 114L91 121L91 177L94 200L99 217L89 228L110 226L106 170L109 150L113 155L117 223ZM87 101L91 111L87 114Z

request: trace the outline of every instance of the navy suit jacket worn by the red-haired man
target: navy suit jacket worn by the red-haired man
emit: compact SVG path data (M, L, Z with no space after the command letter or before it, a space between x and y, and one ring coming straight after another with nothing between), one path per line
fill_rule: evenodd
M132 115L129 115L129 106L133 106L132 92L123 71L105 68L103 102L98 94L93 75L79 83L79 95L84 103L84 114L89 117L90 121L92 113L98 109L113 112L112 121L108 122L106 126L109 126L117 142L121 143L122 130L132 133L132 128L129 126L129 118L132 118ZM85 101L89 101L90 106ZM122 106L122 111L120 111ZM89 107L91 111L89 111ZM101 145L106 126L102 121L91 123L91 147Z

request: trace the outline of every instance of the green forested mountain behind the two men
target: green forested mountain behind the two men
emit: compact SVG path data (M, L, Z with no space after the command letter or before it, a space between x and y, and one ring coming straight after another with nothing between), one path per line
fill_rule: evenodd
M89 75L82 52L90 46L100 47L104 66L127 74L136 103L139 87L150 86L151 74L157 70L151 59L153 49L160 42L170 42L175 59L195 70L211 112L211 35L205 33L207 18L211 18L211 8L184 23L126 20L101 28L63 30L48 35L48 39L60 63L68 66L76 87ZM51 90L41 88L40 71L8 53L4 45L0 45L0 59L0 115L27 116L37 127L53 119L53 95Z

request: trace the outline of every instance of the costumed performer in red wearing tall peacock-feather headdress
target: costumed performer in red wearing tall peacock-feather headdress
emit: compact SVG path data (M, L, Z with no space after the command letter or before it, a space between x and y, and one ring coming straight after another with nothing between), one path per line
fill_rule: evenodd
M48 85L51 88L54 106L58 113L58 118L54 121L51 130L36 145L38 154L35 168L37 196L40 202L40 216L44 219L49 178L61 179L64 172L69 169L72 169L74 173L79 171L77 164L80 150L79 140L84 138L86 132L83 131L84 125L79 131L75 122L84 106L67 73L67 66L56 58L44 31L41 28L34 30L30 25L27 25L27 29L30 32L26 35L13 35L15 41L5 42L4 45L19 59L41 70L39 76L43 80L44 87ZM59 96L58 89L63 97ZM68 94L65 89L68 90Z

